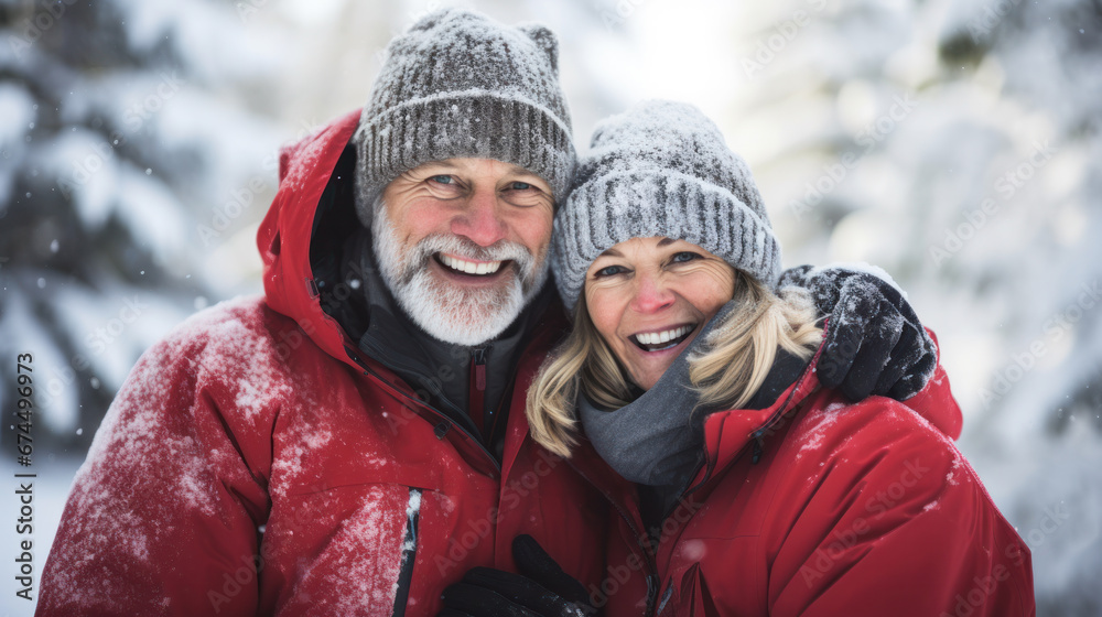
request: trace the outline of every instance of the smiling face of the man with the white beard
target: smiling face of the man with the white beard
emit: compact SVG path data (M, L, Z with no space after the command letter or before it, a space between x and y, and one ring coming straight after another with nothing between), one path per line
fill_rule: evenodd
M491 159L419 165L387 185L371 226L382 278L435 338L485 343L547 279L554 201L540 176Z

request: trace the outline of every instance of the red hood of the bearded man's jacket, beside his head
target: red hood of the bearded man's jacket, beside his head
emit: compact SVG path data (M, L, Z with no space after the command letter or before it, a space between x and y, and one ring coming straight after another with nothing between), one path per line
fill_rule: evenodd
M322 310L310 240L322 194L356 131L359 115L358 109L349 111L280 152L279 190L257 232L268 305L293 318L328 355L356 368L346 351L355 343Z

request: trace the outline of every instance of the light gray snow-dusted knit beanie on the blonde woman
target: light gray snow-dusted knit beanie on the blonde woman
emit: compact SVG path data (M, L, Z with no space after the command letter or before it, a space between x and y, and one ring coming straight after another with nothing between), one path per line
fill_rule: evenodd
M602 121L555 215L551 268L573 310L585 272L631 238L692 242L773 288L780 245L746 162L695 107L651 100Z

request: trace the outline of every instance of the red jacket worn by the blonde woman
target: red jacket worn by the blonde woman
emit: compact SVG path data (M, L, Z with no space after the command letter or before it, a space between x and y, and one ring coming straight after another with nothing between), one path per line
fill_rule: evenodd
M1034 615L1029 550L953 444L960 430L941 367L905 403L850 403L809 368L767 409L707 418L707 463L657 552L631 486L586 444L571 464L618 512L592 598L639 615L657 569L660 617Z

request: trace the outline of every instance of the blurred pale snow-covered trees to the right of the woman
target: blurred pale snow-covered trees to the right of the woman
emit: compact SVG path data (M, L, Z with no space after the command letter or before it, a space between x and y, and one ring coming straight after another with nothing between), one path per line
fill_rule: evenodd
M868 261L910 292L964 410L960 446L1033 551L1038 614L1099 614L1099 3L742 17L733 125L765 134L752 164L786 260Z

